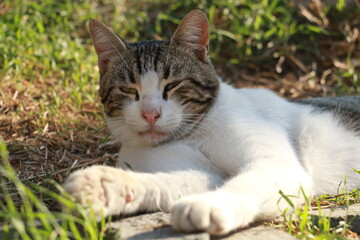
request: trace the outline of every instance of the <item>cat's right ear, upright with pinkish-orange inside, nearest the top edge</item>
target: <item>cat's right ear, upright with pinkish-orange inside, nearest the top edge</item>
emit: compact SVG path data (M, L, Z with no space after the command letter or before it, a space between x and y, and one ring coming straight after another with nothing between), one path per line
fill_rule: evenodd
M198 9L186 14L171 37L171 42L189 47L199 60L205 61L209 47L209 22L206 14Z

